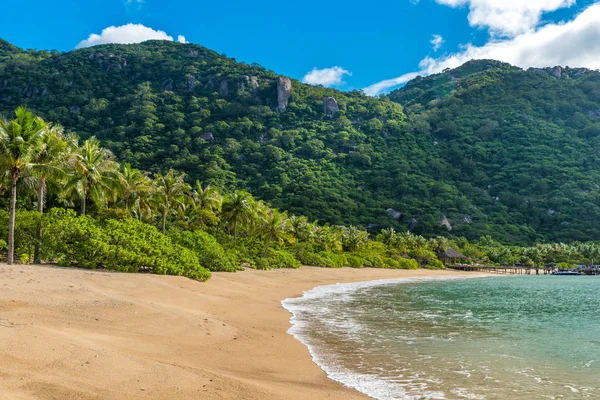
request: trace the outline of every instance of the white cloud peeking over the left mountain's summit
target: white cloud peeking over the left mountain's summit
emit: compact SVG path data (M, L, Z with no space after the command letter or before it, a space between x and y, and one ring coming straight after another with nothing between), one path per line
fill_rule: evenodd
M100 34L92 33L86 40L79 42L75 48L80 49L82 47L96 46L105 43L140 43L146 40L172 41L173 37L167 35L164 31L155 31L154 29L141 24L109 26L108 28L104 28ZM179 35L177 41L180 43L187 43L185 37L182 35Z

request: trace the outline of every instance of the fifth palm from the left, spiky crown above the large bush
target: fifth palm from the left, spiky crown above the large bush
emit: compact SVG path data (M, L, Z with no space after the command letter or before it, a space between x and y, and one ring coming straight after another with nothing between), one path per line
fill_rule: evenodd
M154 175L154 204L162 214L163 234L167 231L167 216L185 210L186 193L191 189L190 185L185 183L185 174L176 174L175 170L170 169L165 175Z

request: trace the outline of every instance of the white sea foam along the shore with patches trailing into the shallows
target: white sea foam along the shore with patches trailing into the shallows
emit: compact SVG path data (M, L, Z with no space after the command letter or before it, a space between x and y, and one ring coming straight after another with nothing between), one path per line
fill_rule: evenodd
M419 283L432 282L442 280L464 280L473 278L482 278L486 275L465 276L465 277L427 277L427 278L400 278L400 279L385 279L368 282L357 283L339 283L335 285L318 286L312 290L304 292L301 297L286 299L281 302L282 306L288 310L292 317L290 322L292 327L288 333L302 342L312 356L313 361L317 364L329 378L342 383L345 386L354 388L370 397L379 400L412 400L412 399L446 399L446 395L439 391L428 390L427 383L421 380L420 390L418 394L409 394L404 389L405 386L411 385L414 387L414 382L399 384L389 380L381 379L378 376L378 371L373 370L372 373L360 373L351 371L343 365L334 362L332 355L326 352L318 351L317 346L312 342L308 332L314 327L312 323L305 319L306 315L316 317L326 329L343 330L348 337L357 336L356 333L361 329L359 324L356 324L348 315L339 316L335 321L330 317L326 317L329 309L327 306L314 305L314 300L332 299L335 298L336 304L349 302L352 300L352 294L358 290L366 289L375 286L397 285L401 283Z

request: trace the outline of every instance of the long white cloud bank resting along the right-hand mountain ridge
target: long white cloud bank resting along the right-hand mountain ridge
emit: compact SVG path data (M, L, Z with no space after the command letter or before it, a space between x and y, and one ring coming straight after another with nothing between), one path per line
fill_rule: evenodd
M566 23L547 24L514 38L493 39L483 46L468 44L461 52L440 58L426 57L419 64L419 72L378 82L364 90L378 95L406 83L407 76L435 74L480 59L504 61L521 68L562 65L600 69L600 3Z

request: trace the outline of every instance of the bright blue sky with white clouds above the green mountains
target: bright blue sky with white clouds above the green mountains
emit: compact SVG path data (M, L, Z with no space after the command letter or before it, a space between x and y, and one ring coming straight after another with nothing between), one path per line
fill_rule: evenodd
M0 37L24 48L69 51L91 34L100 36L89 44L183 35L299 80L378 94L470 58L600 68L596 2L20 0L3 4L3 14L27 17L3 18ZM102 34L126 24L136 25Z

